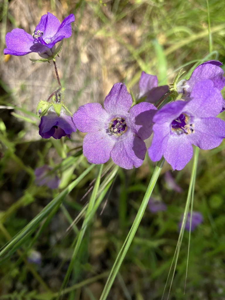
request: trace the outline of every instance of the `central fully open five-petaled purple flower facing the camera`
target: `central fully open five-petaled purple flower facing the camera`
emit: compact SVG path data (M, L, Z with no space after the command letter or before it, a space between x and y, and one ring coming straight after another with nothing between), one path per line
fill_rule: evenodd
M83 155L90 163L104 164L111 156L113 162L125 169L140 167L146 154L143 140L152 134L153 104L132 105L126 85L116 83L104 101L88 103L77 110L73 121L81 132Z

